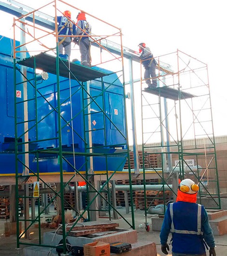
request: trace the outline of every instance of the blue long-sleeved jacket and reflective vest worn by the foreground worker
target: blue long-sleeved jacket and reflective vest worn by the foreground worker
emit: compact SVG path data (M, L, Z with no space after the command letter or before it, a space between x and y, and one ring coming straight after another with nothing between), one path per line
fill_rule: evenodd
M173 217L171 217L171 215ZM204 241L215 246L205 208L197 203L178 201L168 205L161 228L161 244L172 233L173 255L206 255Z

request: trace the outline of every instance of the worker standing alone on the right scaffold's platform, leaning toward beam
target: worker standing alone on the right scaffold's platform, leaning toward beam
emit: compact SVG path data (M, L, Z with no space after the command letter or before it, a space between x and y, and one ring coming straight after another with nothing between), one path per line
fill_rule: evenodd
M153 54L151 53L150 48L147 47L145 43L139 43L138 46L139 46L139 53L141 54L140 59L145 69L145 72L144 72L145 83L148 85L148 87L144 89L149 90L152 88L156 88L157 87L157 79L156 79L157 62L153 57ZM150 78L152 78L152 83Z

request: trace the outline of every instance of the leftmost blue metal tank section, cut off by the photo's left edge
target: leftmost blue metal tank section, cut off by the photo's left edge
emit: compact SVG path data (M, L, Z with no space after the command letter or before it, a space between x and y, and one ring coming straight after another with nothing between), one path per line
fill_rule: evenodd
M8 175L15 173L15 126L14 126L14 67L13 67L13 40L0 37L0 175ZM19 45L16 42L16 45ZM34 77L34 72L28 70L28 77ZM16 80L21 80L20 74L16 73ZM23 98L23 84L17 86L18 100ZM28 89L28 93L34 95L32 89ZM34 107L32 102L28 102L30 109L28 118L34 116ZM18 122L24 119L23 104L17 106ZM29 124L29 127L31 124ZM22 125L18 126L18 132L22 133ZM30 140L35 139L35 132L30 132ZM20 141L20 140L19 140ZM37 145L30 144L29 149L33 150ZM21 151L21 145L18 151ZM22 156L19 156L22 159ZM29 155L32 162L34 155ZM22 172L22 166L19 167Z

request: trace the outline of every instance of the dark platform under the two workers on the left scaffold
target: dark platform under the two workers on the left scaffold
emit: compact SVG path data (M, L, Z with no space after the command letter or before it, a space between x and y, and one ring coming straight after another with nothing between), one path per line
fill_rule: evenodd
M36 56L25 58L18 61L17 63L19 65L23 65L33 69L36 66L37 69L43 70L51 74L57 74L56 57L48 55L46 53L41 53ZM108 75L108 73L98 71L74 62L69 62L66 59L59 59L59 75L66 78L70 77L71 79L78 80L80 82L86 82L106 76Z

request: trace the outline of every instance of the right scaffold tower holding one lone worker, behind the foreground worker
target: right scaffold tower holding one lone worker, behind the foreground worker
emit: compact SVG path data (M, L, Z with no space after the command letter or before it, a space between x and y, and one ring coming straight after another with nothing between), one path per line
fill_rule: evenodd
M154 206L150 208L152 202L146 200L149 171L155 171L163 185L153 199L163 199L160 214L165 213L168 201L176 199L179 180L184 178L199 185L199 203L208 209L220 209L207 65L180 50L155 58L156 88L143 90L146 81L141 68L145 216L147 211L156 213ZM159 159L158 166L153 165L151 154ZM165 184L169 191L164 190Z

